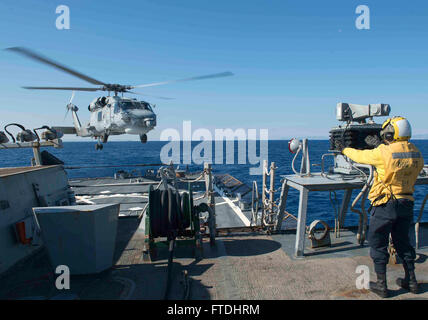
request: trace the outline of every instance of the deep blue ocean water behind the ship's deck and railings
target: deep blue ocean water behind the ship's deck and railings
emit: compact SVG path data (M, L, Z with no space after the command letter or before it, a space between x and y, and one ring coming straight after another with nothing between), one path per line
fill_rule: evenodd
M428 162L428 140L413 140L412 141L422 152L425 162ZM257 142L257 152L259 153L259 143ZM104 145L102 151L96 151L94 148L95 142L65 142L63 149L49 148L48 151L54 154L65 162L65 166L72 167L90 167L90 166L109 166L121 165L121 168L101 167L101 168L79 168L67 170L70 178L78 177L107 177L113 176L119 169L133 170L137 169L142 172L148 167L136 168L134 164L155 164L161 163L160 151L166 142L149 141L147 144L140 142L108 142ZM193 147L199 142L192 142ZM213 142L214 144L214 142ZM329 142L327 140L310 140L309 141L309 154L312 164L320 164L321 156L327 153ZM212 159L214 161L215 148L213 146ZM223 163L226 163L226 145L223 146ZM276 196L280 194L280 176L292 174L291 161L293 155L288 151L288 141L274 140L268 142L268 160L269 163L274 161L277 167L275 188L277 191ZM229 173L238 180L247 183L251 186L253 181L257 181L259 190L261 189L262 177L259 175L250 175L249 169L257 167L260 164L238 164L238 144L235 142L234 147L235 162L234 164L213 164L213 170L216 173ZM10 149L0 150L0 167L16 167L27 166L30 164L32 158L31 149ZM183 155L181 155L181 159ZM331 157L327 158L326 167L331 165ZM330 161L330 162L328 162ZM300 166L300 157L296 160L296 168ZM200 170L201 165L189 165L190 170ZM319 166L313 166L312 169L320 171ZM354 196L358 191L354 192ZM419 213L421 202L425 195L428 193L428 186L417 186L415 191L415 216ZM343 196L342 191L336 192L337 203L336 207L340 205ZM290 189L287 200L287 211L297 215L299 194L297 191ZM367 202L367 207L369 203ZM308 203L308 223L315 219L322 219L330 225L334 222L334 209L330 202L328 192L312 192L309 194ZM428 206L425 208L423 221L428 221ZM357 225L358 215L348 212L346 225Z

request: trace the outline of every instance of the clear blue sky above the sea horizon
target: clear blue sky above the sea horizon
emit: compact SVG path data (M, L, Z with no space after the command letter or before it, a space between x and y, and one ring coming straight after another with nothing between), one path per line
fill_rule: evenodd
M70 8L70 30L55 9ZM358 30L358 5L370 30ZM2 48L25 46L105 82L141 84L232 71L234 77L147 88L158 127L267 128L271 139L327 136L337 102L389 103L428 136L428 2L12 1L0 3ZM0 52L0 126L63 121L70 92L24 85L86 83ZM78 93L81 120L94 93ZM382 120L380 120L382 121ZM113 139L132 140L132 136Z

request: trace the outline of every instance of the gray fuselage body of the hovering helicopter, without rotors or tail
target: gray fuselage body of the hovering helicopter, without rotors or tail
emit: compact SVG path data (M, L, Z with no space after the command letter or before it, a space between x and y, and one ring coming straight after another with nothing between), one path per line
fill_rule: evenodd
M94 99L89 107L91 117L86 129L93 136L143 135L156 126L156 114L145 101L119 96Z

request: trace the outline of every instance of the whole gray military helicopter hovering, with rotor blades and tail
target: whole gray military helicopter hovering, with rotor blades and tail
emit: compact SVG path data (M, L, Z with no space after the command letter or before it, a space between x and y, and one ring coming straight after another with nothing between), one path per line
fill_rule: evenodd
M44 57L28 48L23 47L11 47L6 50L18 53L27 58L36 60L45 65L54 67L65 73L71 74L77 78L80 78L86 82L89 82L97 87L23 87L29 90L70 90L72 92L71 99L66 106L66 116L71 111L74 127L53 127L55 130L59 130L64 134L75 134L80 137L92 137L98 140L95 145L96 150L103 149L103 143L107 143L109 136L111 135L122 135L122 134L134 134L139 135L142 143L147 142L147 133L156 127L156 114L153 111L152 105L143 100L137 100L135 98L123 97L124 93L146 95L131 91L132 89L153 87L159 85L165 85L175 82L185 82L193 80L203 80L211 78L220 78L233 76L232 72L222 72L203 76L196 76L191 78L184 78L179 80L154 82L141 85L121 85L106 83L89 77L83 73L66 67L58 62L55 62L47 57ZM88 106L88 110L91 113L90 120L87 124L82 125L77 115L79 108L74 105L73 98L75 91L106 91L107 96L95 98ZM110 93L114 95L110 96ZM119 96L118 94L121 94ZM149 96L149 95L147 95ZM158 99L170 100L172 98L152 96ZM65 119L65 118L64 118Z

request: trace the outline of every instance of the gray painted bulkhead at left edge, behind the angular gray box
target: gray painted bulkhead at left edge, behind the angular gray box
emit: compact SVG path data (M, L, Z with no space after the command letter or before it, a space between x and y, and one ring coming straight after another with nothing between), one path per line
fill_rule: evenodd
M69 205L69 190L62 166L0 168L0 274L42 245L19 243L15 224L33 222L33 207Z

